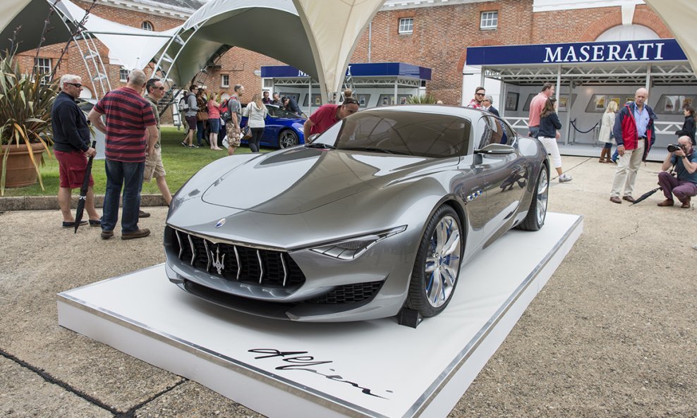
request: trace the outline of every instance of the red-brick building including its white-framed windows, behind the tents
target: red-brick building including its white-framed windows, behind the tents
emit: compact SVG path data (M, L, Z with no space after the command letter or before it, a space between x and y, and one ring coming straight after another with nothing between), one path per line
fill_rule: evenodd
M75 3L83 8L91 4L80 0ZM203 3L202 0L98 0L92 13L123 25L162 31L181 25ZM648 6L636 0L387 0L358 41L351 62L401 61L432 68L432 80L427 83L426 92L446 104L461 104L469 95L462 91L467 47L592 41L612 27L622 25L622 6L627 4L633 7L636 4L632 24L648 27L658 37L673 36ZM262 22L260 27L282 32L282 28L273 24ZM21 54L20 65L28 68L35 56L41 65L53 65L62 47L43 47L38 55L35 51ZM97 48L111 88L120 87L125 81L125 71L109 59L107 48L98 41ZM281 64L253 51L232 48L193 81L226 94L233 85L241 83L251 97L262 89L260 66ZM63 59L59 73L76 73L83 80L90 78L74 46ZM85 87L89 89L86 95L99 97L100 93L93 91L90 83L85 83Z

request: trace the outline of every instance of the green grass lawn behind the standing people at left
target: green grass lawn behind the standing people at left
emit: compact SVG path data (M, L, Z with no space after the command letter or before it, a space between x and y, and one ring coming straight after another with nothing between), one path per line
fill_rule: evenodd
M227 150L212 151L207 146L198 149L182 147L181 141L184 139L184 133L184 130L177 130L174 127L162 128L162 161L167 172L167 184L172 195L200 168L211 161L227 156ZM196 140L194 139L195 142ZM262 149L262 152L265 151L269 151L269 149ZM236 154L247 152L250 152L249 148L243 146L237 149ZM51 158L47 158L47 154L44 153L44 161L46 161L46 165L41 167L41 173L46 190L41 190L41 186L37 183L27 188L5 189L5 196L58 195L58 161L56 161L52 153ZM104 189L107 185L107 175L104 173L104 160L94 161L92 177L95 179L95 194L104 195ZM78 195L79 192L79 189L73 190L75 195ZM159 194L159 189L154 179L150 183L143 184L144 195L153 193Z

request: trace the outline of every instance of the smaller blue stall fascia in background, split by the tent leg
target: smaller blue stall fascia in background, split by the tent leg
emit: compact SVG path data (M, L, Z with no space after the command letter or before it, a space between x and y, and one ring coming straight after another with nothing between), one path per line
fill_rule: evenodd
M359 63L348 64L353 77L408 77L430 80L431 69L407 63ZM308 77L303 71L291 66L262 66L262 78L298 78Z

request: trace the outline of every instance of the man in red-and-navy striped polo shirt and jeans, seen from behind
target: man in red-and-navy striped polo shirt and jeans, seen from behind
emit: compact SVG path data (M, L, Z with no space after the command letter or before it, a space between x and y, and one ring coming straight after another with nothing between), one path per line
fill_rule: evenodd
M141 70L128 74L126 87L108 92L87 116L107 137L104 155L107 162L107 192L102 209L102 239L114 236L119 220L119 198L123 188L121 239L131 240L150 235L147 228L138 228L140 190L143 186L145 155L154 152L157 125L150 103L140 97L147 80ZM106 123L102 122L106 115ZM145 140L145 130L149 140Z

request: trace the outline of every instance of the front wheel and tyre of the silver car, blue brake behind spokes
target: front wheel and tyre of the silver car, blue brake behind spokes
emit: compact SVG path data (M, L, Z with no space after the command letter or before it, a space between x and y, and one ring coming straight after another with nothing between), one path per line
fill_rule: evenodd
M444 205L431 217L416 253L406 306L422 316L440 314L460 275L462 228L454 209Z

